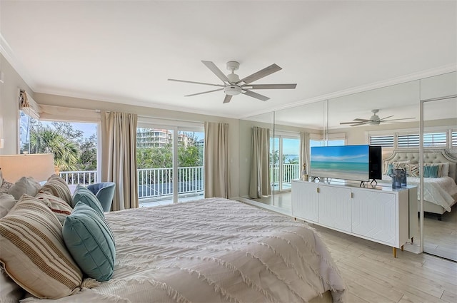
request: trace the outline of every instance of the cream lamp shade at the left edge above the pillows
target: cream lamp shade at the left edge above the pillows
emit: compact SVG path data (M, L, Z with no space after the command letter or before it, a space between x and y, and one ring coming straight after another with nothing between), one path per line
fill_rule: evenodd
M0 155L0 168L4 180L11 183L21 177L32 177L38 182L46 181L54 174L54 155Z

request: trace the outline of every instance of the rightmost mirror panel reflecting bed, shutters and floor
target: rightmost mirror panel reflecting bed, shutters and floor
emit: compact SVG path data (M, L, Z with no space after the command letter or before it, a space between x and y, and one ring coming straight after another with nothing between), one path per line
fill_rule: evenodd
M421 81L423 251L457 261L457 73Z

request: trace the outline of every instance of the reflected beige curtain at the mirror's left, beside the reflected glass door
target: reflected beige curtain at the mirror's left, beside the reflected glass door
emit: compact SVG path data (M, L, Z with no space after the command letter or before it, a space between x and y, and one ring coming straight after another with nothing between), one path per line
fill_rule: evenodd
M270 187L270 130L254 126L252 129L251 179L249 197L256 199L271 195Z

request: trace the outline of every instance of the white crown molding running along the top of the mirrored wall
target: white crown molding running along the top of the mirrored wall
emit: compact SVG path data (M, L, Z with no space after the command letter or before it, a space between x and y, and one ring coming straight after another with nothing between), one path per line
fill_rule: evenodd
M410 82L410 81L420 80L423 78L438 76L438 75L442 75L444 73L452 73L454 71L457 71L457 63L448 64L445 66L439 66L438 68L431 68L426 71L419 71L417 73L410 73L408 75L399 76L399 77L391 78L388 80L369 83L369 84L365 84L363 86L356 86L353 88L345 89L343 91L336 91L334 93L327 93L325 95L303 99L301 101L297 101L294 103L288 103L286 106L272 108L269 111L259 111L258 113L253 113L253 114L251 113L250 115L244 115L244 116L240 116L238 118L245 119L245 118L252 117L254 115L262 115L264 113L271 113L273 111L281 111L283 109L294 108L296 106L302 106L302 105L305 105L308 103L315 103L315 102L325 101L325 100L329 100L329 99L333 99L333 98L348 96L348 95L352 95L353 93L361 93L363 91L371 91L376 88L384 88L384 87L393 86L396 84L401 84L401 83L406 83L406 82Z

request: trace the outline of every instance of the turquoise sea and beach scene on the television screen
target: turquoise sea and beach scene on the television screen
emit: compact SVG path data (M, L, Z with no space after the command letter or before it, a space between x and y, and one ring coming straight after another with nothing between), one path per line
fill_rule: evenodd
M313 177L369 180L369 146L344 145L311 148Z

